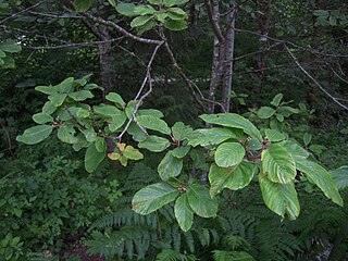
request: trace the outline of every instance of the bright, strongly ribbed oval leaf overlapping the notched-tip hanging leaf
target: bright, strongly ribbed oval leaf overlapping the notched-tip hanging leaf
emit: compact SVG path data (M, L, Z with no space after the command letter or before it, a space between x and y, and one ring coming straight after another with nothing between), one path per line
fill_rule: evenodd
M296 176L295 161L279 145L270 145L261 154L262 169L274 183L291 183Z

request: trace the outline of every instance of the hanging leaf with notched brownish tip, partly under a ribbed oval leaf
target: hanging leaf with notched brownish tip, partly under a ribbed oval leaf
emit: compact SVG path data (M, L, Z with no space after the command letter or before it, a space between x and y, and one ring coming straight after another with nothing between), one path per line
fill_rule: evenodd
M264 175L259 175L259 181L262 198L268 208L283 217L286 213L289 220L296 220L300 213L300 203L294 183L273 183Z

